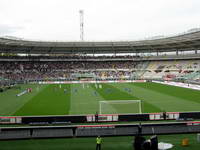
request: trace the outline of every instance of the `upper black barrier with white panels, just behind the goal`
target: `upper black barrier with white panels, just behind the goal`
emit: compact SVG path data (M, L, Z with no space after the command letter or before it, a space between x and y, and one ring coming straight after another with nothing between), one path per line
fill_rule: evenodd
M200 112L159 112L145 114L91 114L63 116L2 116L0 124L70 124L94 122L130 122L154 120L195 120L200 119Z

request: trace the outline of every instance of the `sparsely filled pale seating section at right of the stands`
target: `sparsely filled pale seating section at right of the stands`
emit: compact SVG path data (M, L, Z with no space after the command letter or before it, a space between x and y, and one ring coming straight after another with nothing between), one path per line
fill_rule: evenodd
M200 61L152 61L146 68L143 78L199 80Z

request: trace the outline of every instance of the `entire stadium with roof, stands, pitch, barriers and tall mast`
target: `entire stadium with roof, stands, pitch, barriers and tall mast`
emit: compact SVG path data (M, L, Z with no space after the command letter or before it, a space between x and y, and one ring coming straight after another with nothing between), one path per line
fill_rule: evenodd
M76 42L0 37L0 149L92 150L101 136L103 150L198 150L200 29L92 42L80 28Z

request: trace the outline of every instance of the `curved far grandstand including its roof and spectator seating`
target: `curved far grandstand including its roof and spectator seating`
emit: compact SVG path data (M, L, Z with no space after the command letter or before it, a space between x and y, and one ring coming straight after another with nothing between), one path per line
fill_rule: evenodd
M45 42L4 37L0 38L0 53L1 79L8 80L196 82L200 78L198 30L160 39L118 42Z

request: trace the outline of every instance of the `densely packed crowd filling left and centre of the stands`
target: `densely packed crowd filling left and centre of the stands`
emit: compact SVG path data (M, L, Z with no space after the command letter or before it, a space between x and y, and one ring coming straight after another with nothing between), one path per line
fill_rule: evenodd
M11 80L43 80L72 78L72 74L85 71L95 77L119 78L131 76L131 69L137 68L133 61L48 61L48 62L0 62L0 77Z

